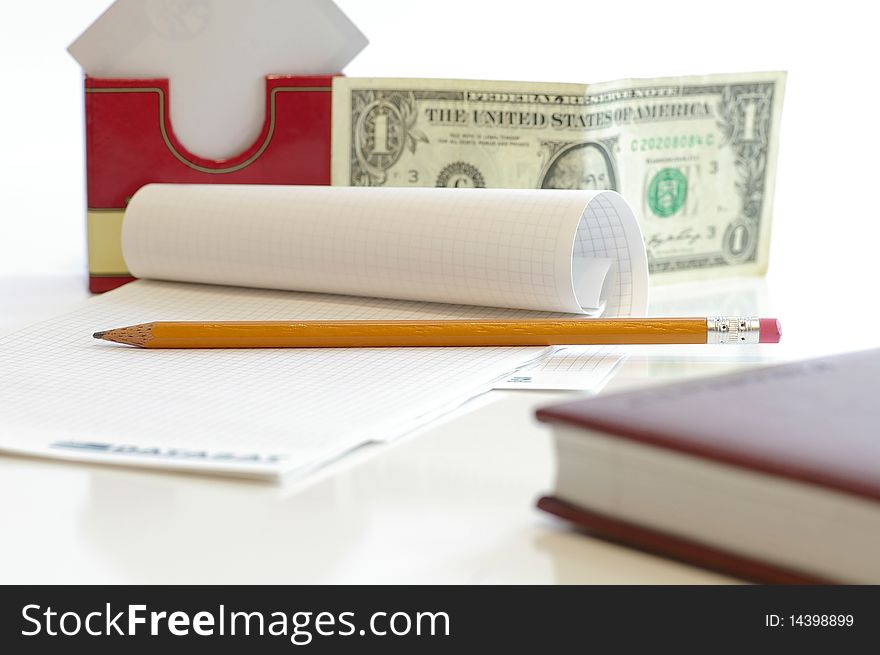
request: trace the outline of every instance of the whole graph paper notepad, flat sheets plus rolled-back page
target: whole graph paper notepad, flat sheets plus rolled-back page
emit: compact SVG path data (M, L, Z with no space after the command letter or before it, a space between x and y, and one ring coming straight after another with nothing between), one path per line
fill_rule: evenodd
M278 478L404 435L549 353L160 352L95 341L95 330L646 304L638 225L613 192L150 185L122 240L144 279L0 340L0 449Z

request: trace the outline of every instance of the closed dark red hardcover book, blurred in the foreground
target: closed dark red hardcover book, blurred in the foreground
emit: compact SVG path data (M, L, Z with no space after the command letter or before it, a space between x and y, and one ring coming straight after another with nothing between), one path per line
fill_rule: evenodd
M542 409L539 506L761 582L880 582L880 350Z

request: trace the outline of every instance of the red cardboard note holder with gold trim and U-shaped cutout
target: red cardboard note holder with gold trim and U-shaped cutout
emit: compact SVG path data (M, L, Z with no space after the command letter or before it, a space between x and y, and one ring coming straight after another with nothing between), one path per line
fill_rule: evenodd
M330 184L333 76L266 78L266 117L249 148L210 160L175 137L167 79L85 81L89 278L93 292L132 278L120 244L128 199L151 182Z

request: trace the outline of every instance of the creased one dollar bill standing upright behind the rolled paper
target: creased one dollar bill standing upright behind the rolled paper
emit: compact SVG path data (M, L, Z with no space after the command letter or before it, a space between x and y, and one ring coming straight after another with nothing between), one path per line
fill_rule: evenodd
M544 84L345 78L333 184L613 189L652 278L767 268L785 73Z

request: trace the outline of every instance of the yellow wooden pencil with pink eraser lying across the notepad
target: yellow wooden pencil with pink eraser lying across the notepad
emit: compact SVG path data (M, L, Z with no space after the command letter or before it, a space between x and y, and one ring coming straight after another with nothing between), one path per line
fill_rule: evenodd
M383 348L571 344L777 343L766 318L524 321L159 321L95 332L141 348Z

